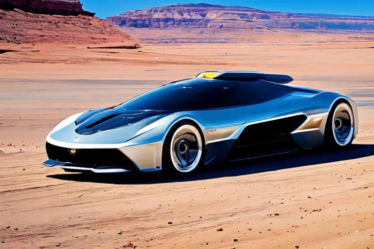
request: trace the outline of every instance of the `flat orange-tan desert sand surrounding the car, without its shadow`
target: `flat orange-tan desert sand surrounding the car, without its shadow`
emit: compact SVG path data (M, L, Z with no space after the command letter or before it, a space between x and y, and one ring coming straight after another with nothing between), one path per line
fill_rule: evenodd
M0 54L0 248L128 242L137 248L374 248L374 41L142 46L2 44L17 52ZM295 85L347 94L359 105L354 145L227 164L186 179L82 176L41 165L45 137L65 117L223 69L289 74Z

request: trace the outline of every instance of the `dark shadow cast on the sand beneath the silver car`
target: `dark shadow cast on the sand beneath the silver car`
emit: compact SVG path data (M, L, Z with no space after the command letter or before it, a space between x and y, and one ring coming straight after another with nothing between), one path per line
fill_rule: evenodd
M128 172L120 174L82 174L63 173L47 175L47 177L75 182L107 183L107 184L160 184L170 182L189 182L215 179L226 176L238 176L279 169L288 169L358 159L374 155L374 145L352 145L349 149L326 151L314 149L299 151L287 156L274 156L262 159L252 159L240 163L225 163L205 167L199 173L185 177L170 177L162 172L138 173Z

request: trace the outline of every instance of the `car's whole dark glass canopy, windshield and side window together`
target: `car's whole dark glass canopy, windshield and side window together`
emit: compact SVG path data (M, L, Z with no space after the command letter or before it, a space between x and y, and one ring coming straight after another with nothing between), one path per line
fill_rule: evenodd
M184 111L258 104L293 92L266 81L233 82L191 79L170 83L136 96L115 110Z

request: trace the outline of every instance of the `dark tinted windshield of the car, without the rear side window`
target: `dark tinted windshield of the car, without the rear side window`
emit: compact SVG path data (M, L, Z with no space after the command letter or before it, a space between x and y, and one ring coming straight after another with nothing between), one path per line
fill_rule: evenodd
M114 109L181 111L219 108L236 92L236 87L236 84L226 81L183 80L140 94Z

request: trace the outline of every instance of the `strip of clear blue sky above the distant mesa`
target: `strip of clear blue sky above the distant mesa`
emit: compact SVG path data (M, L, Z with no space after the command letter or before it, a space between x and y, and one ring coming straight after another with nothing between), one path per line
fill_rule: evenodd
M96 16L105 18L126 11L143 10L151 7L172 4L219 4L252 7L293 13L326 13L341 15L374 16L374 0L80 0L87 11L96 12Z

